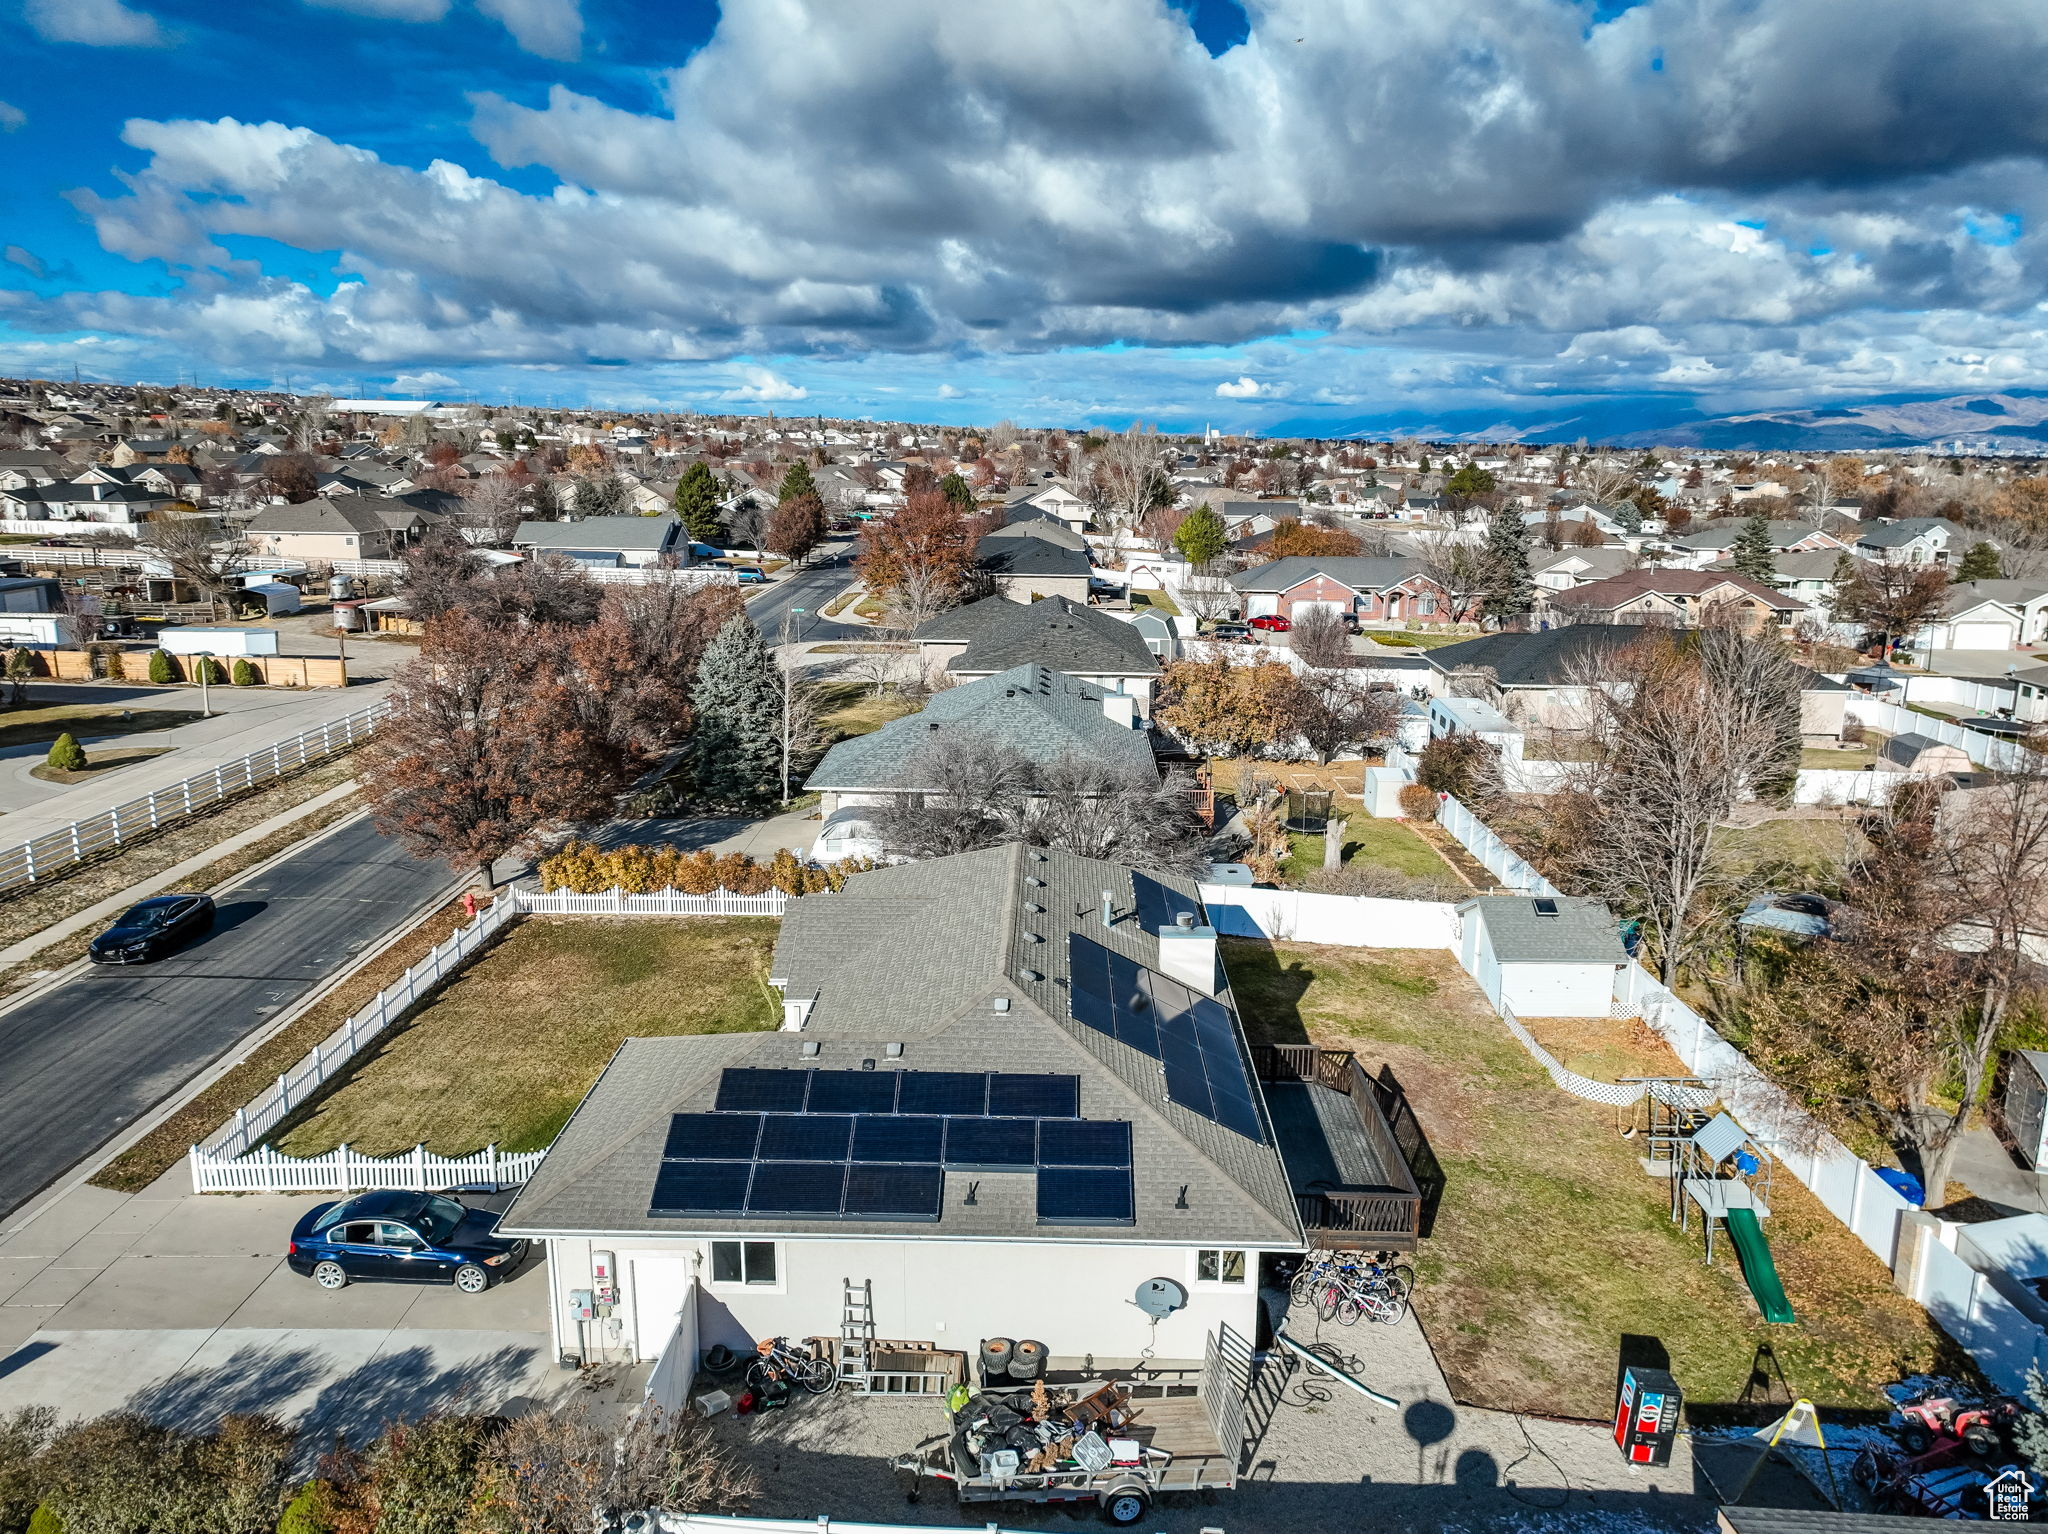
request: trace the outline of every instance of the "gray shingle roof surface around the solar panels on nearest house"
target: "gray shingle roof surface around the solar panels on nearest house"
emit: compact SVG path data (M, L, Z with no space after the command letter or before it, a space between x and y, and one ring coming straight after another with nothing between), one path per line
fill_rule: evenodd
M1200 911L1188 881L1159 883ZM1100 922L1104 889L1116 911L1108 928ZM788 981L791 999L817 997L805 1030L627 1040L504 1227L1298 1247L1294 1196L1272 1133L1257 1143L1167 1102L1157 1061L1067 1016L1069 932L1157 967L1159 940L1135 907L1128 868L1022 846L877 868L840 895L793 901L774 975ZM1026 932L1044 942L1028 942ZM1026 963L1042 979L1024 981ZM1008 1012L991 1008L995 995L1010 997ZM1217 999L1233 1006L1227 989ZM819 1045L815 1059L799 1053L805 1040ZM889 1061L887 1042L903 1045L901 1061ZM946 1176L938 1225L647 1215L668 1116L709 1108L725 1067L860 1069L868 1059L877 1069L1077 1075L1083 1118L1133 1126L1135 1225L1038 1225L1034 1178L985 1171ZM977 1196L967 1204L971 1182Z

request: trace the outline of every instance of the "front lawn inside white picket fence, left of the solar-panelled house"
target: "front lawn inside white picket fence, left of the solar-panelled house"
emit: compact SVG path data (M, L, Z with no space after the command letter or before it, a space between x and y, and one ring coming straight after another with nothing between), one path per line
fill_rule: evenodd
M555 1139L625 1038L774 1028L772 918L528 915L305 1110L287 1155L426 1143L467 1155Z

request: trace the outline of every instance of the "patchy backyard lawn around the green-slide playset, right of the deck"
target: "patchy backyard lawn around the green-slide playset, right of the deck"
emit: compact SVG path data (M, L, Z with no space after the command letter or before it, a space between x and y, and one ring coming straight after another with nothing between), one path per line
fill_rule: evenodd
M1784 1169L1765 1235L1800 1321L1763 1325L1733 1260L1706 1268L1698 1229L1671 1225L1614 1110L1552 1088L1448 952L1231 940L1225 961L1253 1040L1354 1049L1407 1090L1444 1167L1415 1309L1458 1401L1604 1417L1624 1335L1663 1341L1696 1421L1739 1397L1763 1341L1821 1407L1880 1409L1886 1380L1970 1372ZM1677 1073L1655 1036L1599 1028L1552 1036L1602 1073Z

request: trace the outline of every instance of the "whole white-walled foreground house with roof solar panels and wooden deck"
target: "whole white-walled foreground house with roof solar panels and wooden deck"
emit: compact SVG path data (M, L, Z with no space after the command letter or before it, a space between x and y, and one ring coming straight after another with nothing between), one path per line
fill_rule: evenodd
M506 1212L563 1356L831 1337L852 1284L887 1339L1198 1362L1262 1335L1268 1258L1413 1245L1356 1063L1247 1045L1188 881L1024 846L877 868L791 903L770 983L776 1032L629 1040ZM1157 1321L1153 1278L1186 1292Z

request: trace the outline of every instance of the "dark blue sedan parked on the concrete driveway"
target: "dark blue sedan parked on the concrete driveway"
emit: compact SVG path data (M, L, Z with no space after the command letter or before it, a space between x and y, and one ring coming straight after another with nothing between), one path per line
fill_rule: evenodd
M498 1215L444 1194L381 1190L315 1204L291 1233L285 1262L322 1288L360 1280L455 1284L481 1294L526 1255L498 1235Z

